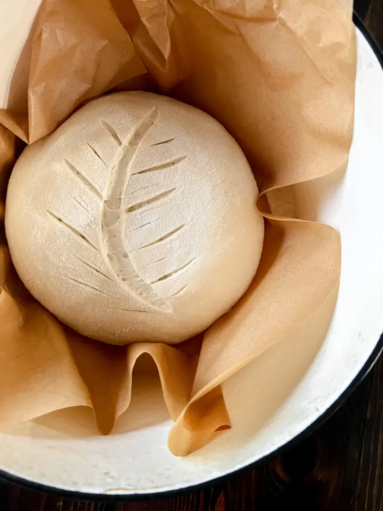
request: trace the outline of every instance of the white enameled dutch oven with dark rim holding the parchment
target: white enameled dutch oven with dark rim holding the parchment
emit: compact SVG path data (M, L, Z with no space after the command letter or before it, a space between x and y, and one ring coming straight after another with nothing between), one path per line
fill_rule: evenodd
M25 90L28 76L15 62L39 4L0 1L0 41L7 42L0 52L0 107L8 104L11 79ZM383 59L361 22L355 23L355 128L348 170L301 184L297 204L300 218L328 223L342 236L341 284L325 339L308 328L310 342L286 338L225 382L225 399L237 402L230 406L232 429L185 458L167 448L172 422L157 379L149 379L133 392L124 424L109 436L97 433L91 411L83 409L0 428L0 476L81 498L137 499L190 489L297 442L366 375L383 345ZM285 354L292 350L304 356L286 365ZM238 379L249 388L242 401L234 391ZM144 417L140 412L149 401L151 413ZM254 418L244 426L241 417L249 410Z

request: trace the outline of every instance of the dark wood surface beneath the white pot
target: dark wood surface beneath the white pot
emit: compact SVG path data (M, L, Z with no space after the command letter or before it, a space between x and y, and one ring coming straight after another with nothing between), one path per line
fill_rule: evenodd
M383 0L355 0L383 47ZM383 91L382 91L383 101ZM383 511L383 358L342 407L285 454L229 482L155 501L94 503L0 479L0 511Z

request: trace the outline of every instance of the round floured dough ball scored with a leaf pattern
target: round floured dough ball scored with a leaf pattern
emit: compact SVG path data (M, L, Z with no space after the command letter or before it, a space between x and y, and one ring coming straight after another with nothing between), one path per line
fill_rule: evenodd
M6 234L22 282L62 322L114 344L173 344L250 285L264 238L257 193L209 115L119 92L22 153Z

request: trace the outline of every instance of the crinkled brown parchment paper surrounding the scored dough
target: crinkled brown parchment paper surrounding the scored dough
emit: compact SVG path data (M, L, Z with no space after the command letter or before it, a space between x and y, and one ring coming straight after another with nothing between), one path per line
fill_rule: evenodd
M230 427L220 384L294 335L337 290L338 233L292 218L294 208L280 217L276 205L286 199L282 187L346 168L351 2L44 0L36 27L28 114L0 111L8 128L0 126L0 422L82 405L108 433L129 406L135 361L149 353L176 421L170 449L186 455ZM40 306L12 267L3 223L11 131L32 143L113 87L160 91L213 115L240 143L260 187L266 236L255 280L203 339L124 347L88 340Z

